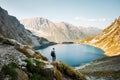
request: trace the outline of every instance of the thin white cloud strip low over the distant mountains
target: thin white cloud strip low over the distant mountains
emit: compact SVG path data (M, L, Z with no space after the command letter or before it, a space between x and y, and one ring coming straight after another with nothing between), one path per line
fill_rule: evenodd
M95 18L85 18L85 17L75 17L75 20L85 21L85 22L105 22L105 21L107 21L106 18L95 19Z

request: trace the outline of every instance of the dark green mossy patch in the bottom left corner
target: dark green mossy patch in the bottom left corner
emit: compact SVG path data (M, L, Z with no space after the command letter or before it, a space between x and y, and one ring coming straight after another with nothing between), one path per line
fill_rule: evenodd
M16 71L17 67L18 66L15 63L10 63L8 65L3 66L1 71L4 74L9 75L10 76L10 80L17 80L17 75L18 75L17 71Z

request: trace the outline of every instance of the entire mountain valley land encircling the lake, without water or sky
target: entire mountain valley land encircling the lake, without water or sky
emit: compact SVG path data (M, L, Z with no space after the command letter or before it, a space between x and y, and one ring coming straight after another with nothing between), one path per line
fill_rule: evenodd
M0 7L0 80L120 80L120 18L100 32L44 18L19 22ZM107 56L71 67L33 49L70 41L99 47Z

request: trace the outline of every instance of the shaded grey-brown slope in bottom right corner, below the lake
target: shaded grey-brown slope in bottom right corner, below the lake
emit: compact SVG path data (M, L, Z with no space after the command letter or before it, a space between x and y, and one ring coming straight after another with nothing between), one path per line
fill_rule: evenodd
M120 80L120 56L108 57L84 64L76 69L87 80Z

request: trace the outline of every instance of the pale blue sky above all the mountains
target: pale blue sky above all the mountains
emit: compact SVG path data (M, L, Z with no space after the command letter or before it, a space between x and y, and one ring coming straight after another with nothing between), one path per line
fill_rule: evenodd
M0 0L0 6L19 20L43 17L101 29L120 16L120 0Z

